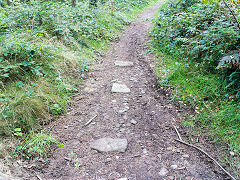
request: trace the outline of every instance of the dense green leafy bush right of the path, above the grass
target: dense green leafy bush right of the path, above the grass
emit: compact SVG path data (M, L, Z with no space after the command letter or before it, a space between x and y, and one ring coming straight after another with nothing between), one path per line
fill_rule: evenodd
M219 18L213 5L195 2L187 11L182 11L181 4L188 2L181 2L160 13L153 37L160 45L169 44L166 51L171 53L177 45L183 57L205 63L214 71L219 58L236 49L240 36L225 15Z

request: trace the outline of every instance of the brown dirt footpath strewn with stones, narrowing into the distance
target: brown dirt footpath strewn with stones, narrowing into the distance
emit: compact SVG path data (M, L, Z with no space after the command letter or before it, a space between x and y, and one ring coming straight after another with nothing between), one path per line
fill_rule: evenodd
M92 67L68 114L52 128L65 147L36 162L26 179L226 178L200 152L174 141L175 107L157 91L153 57L146 53L160 5L140 14ZM113 145L95 141L101 138Z

